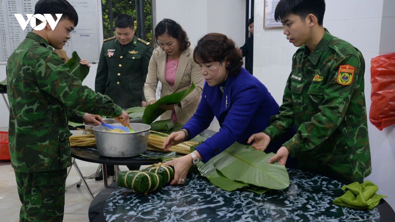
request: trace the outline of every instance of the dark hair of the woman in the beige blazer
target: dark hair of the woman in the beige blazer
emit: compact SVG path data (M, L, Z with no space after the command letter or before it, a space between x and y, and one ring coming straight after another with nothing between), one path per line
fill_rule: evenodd
M185 30L181 27L180 24L171 19L163 19L162 21L160 21L156 25L154 32L154 42L156 43L156 45L159 45L158 36L161 36L163 34L167 34L177 39L180 45L181 52L188 49L191 45Z

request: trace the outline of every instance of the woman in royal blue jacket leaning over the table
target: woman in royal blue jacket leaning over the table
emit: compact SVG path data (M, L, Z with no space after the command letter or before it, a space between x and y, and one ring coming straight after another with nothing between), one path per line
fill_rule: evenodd
M194 60L206 81L201 101L192 118L180 131L170 134L163 147L167 151L170 146L192 139L209 127L214 116L220 130L191 154L165 163L175 169L171 185L183 184L192 165L207 162L235 141L247 144L250 135L262 132L270 117L278 114L279 106L267 88L241 67L243 60L237 50L234 41L219 33L203 36L195 47ZM281 144L277 141L265 152L276 152Z

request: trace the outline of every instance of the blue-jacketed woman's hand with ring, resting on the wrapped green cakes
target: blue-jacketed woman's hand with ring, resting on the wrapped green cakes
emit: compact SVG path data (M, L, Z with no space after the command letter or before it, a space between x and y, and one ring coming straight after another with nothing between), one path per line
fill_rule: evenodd
M192 156L187 154L166 162L163 165L174 166L174 179L171 181L170 185L182 185L186 180L189 168L193 166Z

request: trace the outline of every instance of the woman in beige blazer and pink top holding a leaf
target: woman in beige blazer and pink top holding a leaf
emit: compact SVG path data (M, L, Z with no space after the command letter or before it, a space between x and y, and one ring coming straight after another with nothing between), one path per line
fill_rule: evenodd
M195 89L178 105L161 105L167 111L160 119L172 119L185 124L194 115L201 98L204 79L193 59L194 48L182 27L171 19L163 19L155 27L154 41L159 46L153 52L144 85L148 104L156 102L158 81L162 83L160 96L181 92L193 82Z

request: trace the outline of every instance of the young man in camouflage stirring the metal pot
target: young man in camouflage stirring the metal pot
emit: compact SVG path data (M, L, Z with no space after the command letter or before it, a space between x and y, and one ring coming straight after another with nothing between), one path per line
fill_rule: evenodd
M22 203L20 221L59 222L71 165L68 120L100 125L98 115L108 115L126 125L129 116L108 96L82 86L53 52L52 47L62 49L78 23L70 3L40 0L34 13L62 17L54 30L47 23L29 32L8 59L9 151Z

